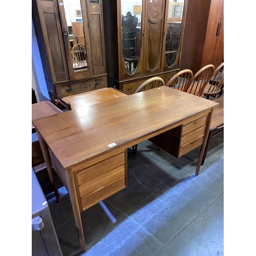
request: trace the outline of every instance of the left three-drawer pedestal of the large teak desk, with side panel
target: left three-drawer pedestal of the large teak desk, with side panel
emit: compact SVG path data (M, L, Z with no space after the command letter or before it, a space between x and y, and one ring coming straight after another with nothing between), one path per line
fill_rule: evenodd
M49 150L52 166L68 189L65 170ZM106 154L71 169L80 212L127 186L127 149ZM69 189L68 189L69 190Z

